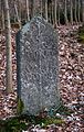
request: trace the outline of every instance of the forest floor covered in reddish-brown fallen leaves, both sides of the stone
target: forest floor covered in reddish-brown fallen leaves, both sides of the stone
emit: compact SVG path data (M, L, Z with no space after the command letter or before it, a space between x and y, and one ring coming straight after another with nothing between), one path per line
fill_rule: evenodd
M64 127L36 132L84 132L84 44L77 42L78 25L62 25L59 31L59 87L62 100L74 113ZM6 38L0 34L0 119L13 116L17 107L15 30L12 31L12 68L14 94L6 94ZM35 132L35 130L34 130Z

